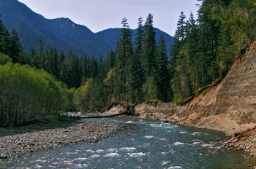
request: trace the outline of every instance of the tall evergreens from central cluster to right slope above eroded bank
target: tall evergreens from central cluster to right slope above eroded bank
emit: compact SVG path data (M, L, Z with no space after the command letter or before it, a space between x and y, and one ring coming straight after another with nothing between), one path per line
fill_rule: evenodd
M238 51L255 39L252 16L256 4L254 0L199 3L197 20L193 14L186 17L181 12L170 60L163 36L156 41L151 14L145 24L138 20L135 42L124 18L116 52L110 52L105 63L107 73L88 79L78 88L78 107L80 104L80 109L87 111L111 102L131 104L156 99L181 103L197 90L220 82Z

